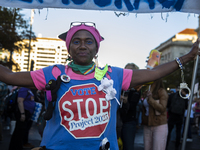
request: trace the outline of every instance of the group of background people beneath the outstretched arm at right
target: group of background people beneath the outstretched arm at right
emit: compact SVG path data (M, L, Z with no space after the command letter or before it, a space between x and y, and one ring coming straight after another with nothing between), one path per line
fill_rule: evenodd
M146 86L146 85L145 85ZM163 86L162 79L156 80L153 82L150 86L147 85L144 87L143 92L140 97L131 97L130 94L127 94L129 92L126 91L125 95L122 94L121 100L131 102L134 101L136 98L139 99L139 101L142 103L142 118L140 116L135 116L135 122L138 122L140 119L142 127L143 127L143 140L144 140L144 150L168 150L170 141L174 141L174 148L175 150L180 150L180 144L183 140L184 135L184 127L187 117L187 108L189 99L184 99L180 97L178 87L176 91L167 91L165 87ZM136 92L136 91L135 91ZM136 92L137 95L138 92ZM181 91L182 96L186 96L188 93L187 90L183 89ZM132 93L132 95L134 95ZM197 93L197 96L199 94ZM180 102L180 101L182 102ZM175 101L177 102L177 105L175 104ZM138 102L138 101L136 101ZM197 98L194 96L192 107L191 107L191 113L190 113L190 119L188 124L188 133L187 133L187 142L192 142L192 128L197 132L198 136L200 137L200 121L199 121L199 110L200 107L198 107L200 102L200 98ZM181 104L182 103L182 104ZM130 105L130 104L129 104ZM141 105L139 103L135 104L136 106ZM172 108L172 105L174 108ZM129 108L129 107L128 107ZM174 110L175 109L175 110ZM123 120L124 116L127 118L128 111L127 108L119 108L122 115L118 117L118 122ZM132 109L132 111L135 109ZM123 135L123 130L120 128L120 131L118 129L118 140L121 138L122 143L120 144L120 150L134 150L134 139L131 137L133 136L135 138L135 134L137 131L137 123L132 122L132 126L134 129L129 129L129 131L132 131L131 133L128 133L126 135ZM124 122L123 122L124 123ZM120 124L121 127L123 127L123 123ZM138 122L139 123L139 122ZM131 124L131 122L130 122ZM118 126L117 126L118 127ZM128 130L128 128L127 128ZM133 132L134 131L134 132ZM129 135L130 134L130 135ZM126 136L126 137L124 137ZM130 137L130 139L128 139ZM128 139L128 140L124 140ZM130 141L131 140L131 141ZM129 141L129 142L127 142ZM131 145L132 147L127 147L126 144Z

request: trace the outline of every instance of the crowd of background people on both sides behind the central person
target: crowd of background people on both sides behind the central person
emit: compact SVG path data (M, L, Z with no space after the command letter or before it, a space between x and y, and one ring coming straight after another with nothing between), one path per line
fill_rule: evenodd
M138 67L134 63L129 63L125 66L126 69L138 69ZM149 85L148 85L149 86ZM167 93L165 90L162 79L156 80L151 84L150 88L145 91L141 91L141 87L138 89L129 89L127 91L121 91L121 106L118 109L120 117L117 122L121 121L117 128L119 128L117 134L117 138L121 138L122 143L119 145L120 150L134 150L134 140L136 131L139 126L142 125L144 131L144 149L160 149L167 150L167 146L170 141L170 137L172 130L175 129L175 147L178 149L180 147L181 137L183 137L184 133L184 125L187 115L187 107L188 100L183 99L184 112L182 114L176 114L170 111L170 105L172 103L173 97L179 96L179 92L171 92ZM10 88L11 89L11 88ZM19 89L18 94L18 103L19 103L19 111L17 111L16 115L9 114L10 112L6 109L7 105L5 101L5 97L12 93L14 90ZM146 89L146 88L145 88ZM10 91L10 92L9 92ZM34 92L34 90L33 90ZM16 88L13 87L9 90L9 86L5 83L1 82L1 92L2 100L4 99L4 104L1 104L1 120L3 119L6 126L4 126L4 130L10 129L11 121L15 120L15 129L12 132L12 137L10 141L9 149L18 149L22 148L33 148L34 145L28 143L28 132L32 125L31 114L33 114L33 106L35 106L35 101L42 103L44 106L44 92L37 91L33 94L33 92L28 88ZM183 95L186 95L187 91L182 91ZM34 98L35 97L35 98ZM180 98L180 96L179 96ZM24 109L21 106L22 101L24 103ZM187 141L192 142L192 126L199 129L199 107L200 98L195 97L191 114L190 114L190 122L188 127L188 135ZM30 103L30 104L29 104ZM28 106L27 106L28 105ZM138 109L139 107L139 109ZM142 110L141 108L142 107ZM29 112L30 109L31 111ZM44 112L44 107L43 111ZM20 112L20 113L19 113ZM25 112L25 114L23 113ZM140 115L140 113L142 115ZM41 120L42 119L42 120ZM141 121L140 121L141 120ZM39 133L42 137L42 133L45 126L45 121L43 118L38 118L38 122L41 123L42 126L38 126ZM2 121L1 121L2 123ZM1 124L1 131L3 130ZM1 140L2 140L2 132L0 132ZM200 133L198 133L200 136ZM174 135L172 135L174 136ZM21 143L21 144L19 144ZM118 142L118 144L120 144Z

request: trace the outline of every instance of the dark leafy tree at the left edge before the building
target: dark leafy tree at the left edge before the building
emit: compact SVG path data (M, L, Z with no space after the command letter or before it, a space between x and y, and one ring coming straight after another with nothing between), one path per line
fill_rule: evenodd
M0 6L0 44L3 49L10 52L9 61L13 64L12 54L28 48L28 43L22 44L24 39L35 39L34 33L30 30L28 21L23 19L20 8L6 8ZM19 44L21 43L21 44ZM12 69L12 65L9 66Z

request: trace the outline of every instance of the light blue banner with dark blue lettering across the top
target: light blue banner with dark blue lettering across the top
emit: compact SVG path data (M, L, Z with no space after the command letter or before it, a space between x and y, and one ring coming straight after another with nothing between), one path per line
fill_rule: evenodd
M200 14L200 0L0 0L0 6L30 9L109 10L130 13L180 11Z

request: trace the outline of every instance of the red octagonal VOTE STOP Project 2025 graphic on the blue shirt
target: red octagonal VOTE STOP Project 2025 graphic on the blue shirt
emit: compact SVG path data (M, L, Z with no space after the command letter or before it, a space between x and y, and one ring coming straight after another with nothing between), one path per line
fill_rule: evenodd
M74 138L100 137L110 119L110 101L97 85L72 86L60 99L61 125Z

